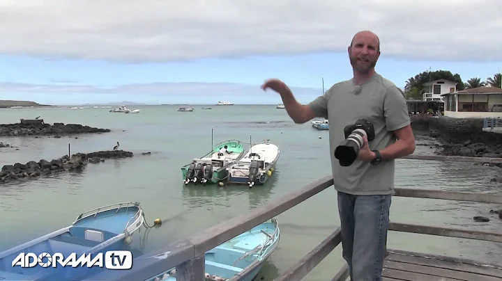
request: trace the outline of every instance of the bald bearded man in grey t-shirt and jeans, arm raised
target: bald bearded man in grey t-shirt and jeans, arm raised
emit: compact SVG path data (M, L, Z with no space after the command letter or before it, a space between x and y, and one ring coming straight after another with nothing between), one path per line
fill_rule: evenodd
M394 193L394 159L412 154L415 138L402 91L374 70L380 56L377 35L370 31L356 33L348 51L353 78L336 83L310 104L296 102L289 87L277 79L266 81L261 88L279 93L297 124L316 117L329 120L343 257L349 264L351 280L379 281ZM344 127L361 118L372 122L375 138L369 144L364 139L351 166L340 166L334 151L345 139Z

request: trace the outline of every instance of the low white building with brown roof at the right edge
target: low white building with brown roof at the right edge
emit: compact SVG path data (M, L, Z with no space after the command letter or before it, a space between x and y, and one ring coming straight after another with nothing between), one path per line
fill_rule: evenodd
M444 115L452 118L502 117L502 89L479 87L441 95Z

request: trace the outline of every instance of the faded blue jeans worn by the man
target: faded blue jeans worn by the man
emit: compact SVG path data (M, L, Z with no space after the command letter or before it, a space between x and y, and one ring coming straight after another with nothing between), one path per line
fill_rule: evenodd
M338 192L342 256L353 281L382 280L391 198Z

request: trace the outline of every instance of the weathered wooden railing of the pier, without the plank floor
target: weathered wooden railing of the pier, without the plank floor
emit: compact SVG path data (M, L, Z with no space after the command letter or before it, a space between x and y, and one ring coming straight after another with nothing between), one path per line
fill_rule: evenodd
M502 163L502 159L484 157L460 157L437 155L409 155L402 159L418 159L433 161L460 161L475 163ZM246 232L252 227L273 218L282 212L291 209L313 195L324 191L333 185L333 177L323 177L303 188L277 198L268 204L253 209L248 214L236 216L211 228L193 234L186 239L172 243L157 250L148 258L135 260L133 268L123 273L114 273L107 280L142 281L154 275L176 267L176 280L178 281L203 281L204 280L204 253L220 245L238 234ZM409 198L433 198L441 200L460 200L471 202L499 203L502 204L502 195L466 193L456 191L438 191L413 188L395 188L395 196ZM390 230L397 232L412 232L436 236L450 236L465 239L502 242L501 233L480 232L475 230L461 230L447 227L432 227L426 225L412 225L406 223L390 223ZM287 271L275 278L276 281L301 280L319 264L341 241L340 227L338 227L319 246L308 252L300 261L291 266ZM335 273L333 273L335 274ZM335 275L332 281L347 280L349 269L347 264ZM232 278L232 281L238 278Z

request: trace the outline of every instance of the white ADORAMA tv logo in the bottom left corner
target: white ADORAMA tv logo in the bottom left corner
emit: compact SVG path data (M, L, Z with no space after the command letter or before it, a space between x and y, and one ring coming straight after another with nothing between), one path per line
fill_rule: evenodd
M115 250L91 254L82 254L77 257L75 252L64 257L61 252L56 252L50 255L48 252L43 252L36 255L33 252L21 252L12 262L12 267L21 266L24 268L41 266L41 267L105 267L107 269L130 269L132 268L132 253L130 251Z

